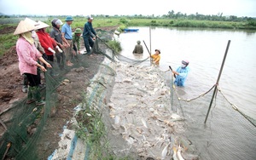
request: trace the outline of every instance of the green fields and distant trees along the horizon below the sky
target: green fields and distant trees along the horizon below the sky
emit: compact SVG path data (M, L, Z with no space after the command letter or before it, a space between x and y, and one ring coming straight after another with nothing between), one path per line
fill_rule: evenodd
M203 15L203 14L182 14L180 12L175 13L173 10L169 11L168 14L162 16L147 15L92 15L95 20L93 20L93 26L104 27L104 26L119 26L117 31L124 31L127 26L175 26L175 27L197 27L197 28L221 28L221 29L232 29L232 30L253 30L256 31L256 19L251 17L237 17L234 15L223 16L223 14L216 15ZM15 28L9 30L11 32L6 32L9 26L17 26L20 20L24 20L26 15L19 16L0 16L0 56L3 55L11 46L16 43L17 37L12 36L12 32ZM50 21L55 17L61 19L63 22L66 19L66 15L61 16L32 16L32 20L41 20L51 26ZM73 17L73 29L79 27L84 28L84 23L87 21L84 16L74 16ZM49 29L48 29L49 31ZM115 46L113 42L109 45ZM119 49L119 48L115 48Z

